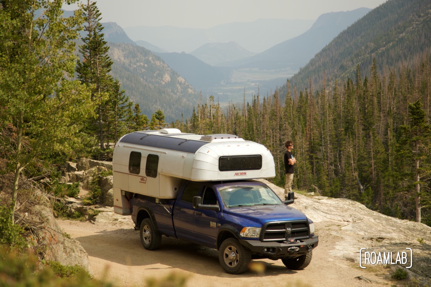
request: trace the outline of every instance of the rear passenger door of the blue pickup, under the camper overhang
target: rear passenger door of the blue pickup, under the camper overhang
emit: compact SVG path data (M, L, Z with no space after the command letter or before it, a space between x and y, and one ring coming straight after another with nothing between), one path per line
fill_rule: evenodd
M174 226L178 238L196 240L194 235L194 208L193 197L202 191L202 183L188 182L184 191L175 202Z

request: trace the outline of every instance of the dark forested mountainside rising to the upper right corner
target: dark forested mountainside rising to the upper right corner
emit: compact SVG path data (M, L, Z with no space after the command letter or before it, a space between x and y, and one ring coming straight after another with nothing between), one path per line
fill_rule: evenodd
M290 86L305 89L309 79L315 88L324 77L332 83L353 79L357 65L368 75L373 59L378 71L398 69L431 53L431 2L389 0L342 31L290 79ZM280 89L283 95L286 85Z

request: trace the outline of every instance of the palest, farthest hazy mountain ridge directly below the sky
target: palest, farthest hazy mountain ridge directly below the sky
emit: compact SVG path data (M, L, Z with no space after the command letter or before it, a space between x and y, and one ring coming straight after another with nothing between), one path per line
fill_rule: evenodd
M206 43L237 42L251 52L262 52L280 41L307 31L315 20L259 19L250 23L227 23L209 29L172 26L126 27L134 40L144 40L169 52L192 52Z

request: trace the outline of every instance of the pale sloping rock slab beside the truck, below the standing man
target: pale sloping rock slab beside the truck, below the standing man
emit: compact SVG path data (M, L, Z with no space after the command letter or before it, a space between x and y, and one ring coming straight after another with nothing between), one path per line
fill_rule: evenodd
M265 182L280 197L284 196L283 188ZM376 254L392 252L393 262L396 261L398 252L407 252L406 264L390 267L406 268L412 265L405 270L424 284L431 282L430 226L386 216L345 198L309 197L302 194L295 194L295 197L298 199L291 206L301 210L315 222L319 241L333 241L334 249L330 252L332 256L359 266L363 263L365 251ZM361 248L365 248L362 253ZM412 262L410 251L406 248L412 249Z

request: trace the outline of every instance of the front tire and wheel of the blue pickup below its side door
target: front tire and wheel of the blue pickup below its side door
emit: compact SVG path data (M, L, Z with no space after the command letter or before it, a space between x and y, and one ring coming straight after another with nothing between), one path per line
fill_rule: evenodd
M251 251L241 245L236 238L228 238L220 245L219 262L225 272L244 273L248 270L250 261Z

